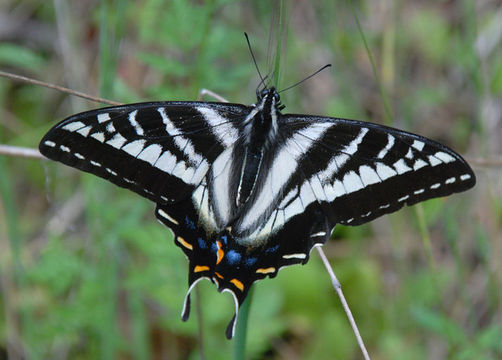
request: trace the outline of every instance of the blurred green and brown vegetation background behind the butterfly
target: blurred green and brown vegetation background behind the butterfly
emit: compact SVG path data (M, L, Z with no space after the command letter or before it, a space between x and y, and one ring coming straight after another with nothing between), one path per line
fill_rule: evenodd
M3 0L0 69L120 102L193 100L204 87L252 103L244 31L264 73L282 44L279 88L332 63L282 94L286 112L420 133L478 177L469 192L339 226L326 244L372 358L501 359L502 3L282 5L278 25L275 1ZM0 79L0 143L36 148L57 121L98 106ZM187 263L153 204L21 157L0 157L0 191L0 359L232 356L229 295L201 284L203 325L180 321ZM246 352L361 357L315 254L255 285Z

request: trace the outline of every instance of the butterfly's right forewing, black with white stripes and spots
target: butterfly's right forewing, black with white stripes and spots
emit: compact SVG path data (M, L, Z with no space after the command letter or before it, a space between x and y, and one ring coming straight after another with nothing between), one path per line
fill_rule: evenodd
M303 212L323 209L330 224L359 225L403 205L471 188L475 176L457 153L430 139L389 127L353 120L285 115L289 132L312 139L312 124L326 124L313 145L289 144L303 155L283 190ZM307 131L305 131L307 129ZM310 144L309 142L307 142ZM285 219L285 221L289 221Z

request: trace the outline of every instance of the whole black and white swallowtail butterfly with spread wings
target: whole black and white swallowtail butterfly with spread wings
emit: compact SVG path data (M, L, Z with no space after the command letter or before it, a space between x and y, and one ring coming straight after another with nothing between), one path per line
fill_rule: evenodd
M152 200L201 279L235 300L253 282L305 264L336 224L359 225L404 205L467 190L460 155L382 125L282 114L275 88L256 105L150 102L73 115L40 152Z

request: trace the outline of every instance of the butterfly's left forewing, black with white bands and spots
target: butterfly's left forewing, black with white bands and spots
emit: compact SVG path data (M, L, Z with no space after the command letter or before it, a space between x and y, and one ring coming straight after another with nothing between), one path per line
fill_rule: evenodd
M239 136L249 108L207 102L151 102L73 115L42 139L49 159L130 189L159 204L179 201L203 181Z

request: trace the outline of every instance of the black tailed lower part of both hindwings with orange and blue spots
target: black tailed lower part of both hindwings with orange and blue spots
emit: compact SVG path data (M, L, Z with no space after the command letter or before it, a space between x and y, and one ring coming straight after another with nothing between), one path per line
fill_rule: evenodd
M226 331L233 337L239 308L251 285L267 276L275 277L284 266L305 264L315 244L329 237L329 225L322 212L309 209L296 221L270 234L261 244L242 245L231 229L210 233L200 222L192 199L176 204L158 204L157 219L173 232L174 242L188 259L188 286L182 319L190 314L190 293L201 280L212 281L220 292L232 294L235 315Z

